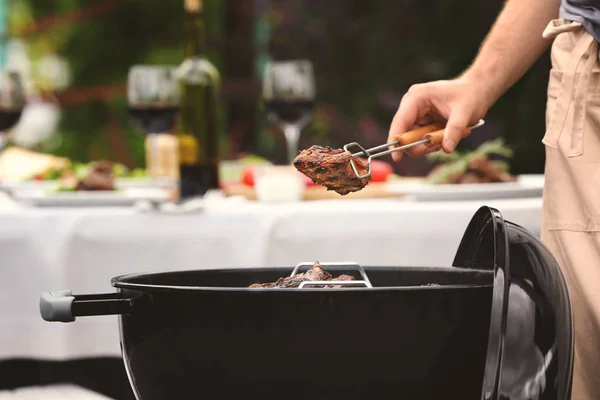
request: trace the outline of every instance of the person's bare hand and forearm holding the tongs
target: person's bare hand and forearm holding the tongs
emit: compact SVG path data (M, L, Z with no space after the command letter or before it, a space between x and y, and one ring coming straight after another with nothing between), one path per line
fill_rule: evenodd
M465 129L477 123L514 85L550 45L542 37L558 17L560 0L511 0L494 23L473 65L459 78L415 85L400 103L388 142L415 125L446 123L442 146L418 146L408 152L420 156L443 147L452 152ZM392 153L395 161L401 152Z

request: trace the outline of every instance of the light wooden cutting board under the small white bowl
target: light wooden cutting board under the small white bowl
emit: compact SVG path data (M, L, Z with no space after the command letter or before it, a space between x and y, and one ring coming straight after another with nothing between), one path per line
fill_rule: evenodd
M244 185L243 183L234 183L227 185L224 188L224 192L228 196L244 196L248 200L256 200L256 192L254 188ZM403 195L401 193L392 193L385 189L384 182L369 183L363 190L349 193L345 196L341 196L333 191L327 191L322 186L309 186L306 188L304 193L304 200L345 200L345 199L383 199L383 198L399 198Z

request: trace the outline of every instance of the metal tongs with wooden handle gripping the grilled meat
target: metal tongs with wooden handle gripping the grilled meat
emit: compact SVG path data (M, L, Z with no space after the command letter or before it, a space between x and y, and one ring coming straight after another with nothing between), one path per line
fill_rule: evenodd
M463 134L463 138L469 136L473 129L479 128L483 124L485 124L485 121L480 119L477 124L467 128L466 132ZM358 179L370 178L371 177L371 160L373 160L374 158L385 156L385 155L394 153L396 151L405 151L412 147L418 146L420 144L424 144L427 147L433 147L438 144L441 144L442 139L444 138L444 129L445 129L444 125L438 124L438 123L426 125L426 126L422 126L417 129L413 129L412 131L401 133L394 138L393 142L390 142L390 143L382 144L380 146L372 147L370 149L365 149L357 142L352 142L352 143L346 144L344 146L344 150L350 152L350 150L348 150L348 149L351 148L352 146L356 146L361 150L358 153L352 154L352 158L350 159L350 166L352 167L352 171L354 171L354 174L356 175L356 177ZM389 147L391 147L391 146L393 146L394 148L389 149ZM383 149L388 149L388 150L381 151L379 153L374 153L376 151L383 150ZM367 157L367 163L368 163L367 172L365 172L362 175L358 172L358 169L356 168L356 165L354 164L354 160L353 160L354 157L358 157L361 155L364 155L365 157Z

